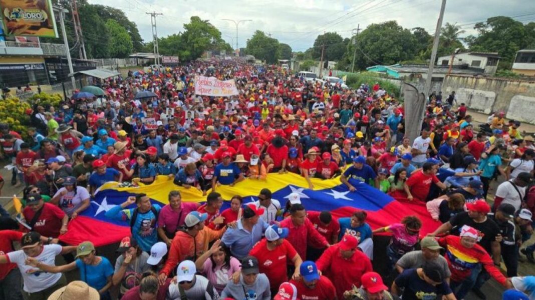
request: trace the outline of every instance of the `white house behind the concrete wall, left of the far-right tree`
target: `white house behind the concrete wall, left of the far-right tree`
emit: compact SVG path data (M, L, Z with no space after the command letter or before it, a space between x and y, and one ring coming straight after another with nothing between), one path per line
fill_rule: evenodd
M442 56L437 60L437 65L449 66L452 56ZM500 56L498 52L462 52L455 54L453 58L454 66L467 66L470 68L482 69L484 74L494 75L498 69Z

